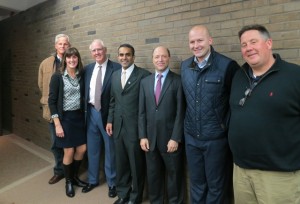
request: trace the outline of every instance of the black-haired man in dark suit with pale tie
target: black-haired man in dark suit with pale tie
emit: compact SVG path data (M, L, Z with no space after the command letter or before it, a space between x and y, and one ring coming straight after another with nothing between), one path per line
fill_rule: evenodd
M141 203L145 180L145 155L139 145L138 104L140 81L149 71L134 64L134 48L122 44L118 59L122 70L112 76L111 101L106 131L114 138L116 187L119 199L114 204Z

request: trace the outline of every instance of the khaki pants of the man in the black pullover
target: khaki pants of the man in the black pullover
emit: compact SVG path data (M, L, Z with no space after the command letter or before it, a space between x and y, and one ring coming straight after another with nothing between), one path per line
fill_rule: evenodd
M235 204L300 204L300 170L243 169L234 164Z

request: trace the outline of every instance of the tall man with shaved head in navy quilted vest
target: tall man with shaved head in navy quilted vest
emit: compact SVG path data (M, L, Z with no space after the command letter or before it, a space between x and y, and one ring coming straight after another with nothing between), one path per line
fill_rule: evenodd
M205 26L189 32L193 56L181 64L187 102L184 135L193 204L226 204L232 199L232 156L227 127L231 81L239 68L216 52Z

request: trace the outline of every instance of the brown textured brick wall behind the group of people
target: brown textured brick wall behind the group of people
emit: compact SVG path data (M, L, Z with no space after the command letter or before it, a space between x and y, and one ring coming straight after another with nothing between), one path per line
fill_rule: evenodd
M153 69L152 49L165 45L171 51L171 67L178 72L180 61L191 55L187 42L191 26L207 25L215 49L242 63L237 32L253 23L269 29L276 52L300 64L298 0L48 1L0 22L1 88L6 93L1 101L9 104L2 113L11 111L15 134L49 147L37 73L40 62L54 51L58 33L70 35L85 64L91 62L88 46L94 38L104 40L113 60L121 43L131 43L136 48L136 64L149 69Z

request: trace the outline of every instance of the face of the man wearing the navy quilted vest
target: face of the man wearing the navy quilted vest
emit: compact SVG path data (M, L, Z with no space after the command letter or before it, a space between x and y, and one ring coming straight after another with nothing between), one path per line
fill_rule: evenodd
M199 62L203 61L210 53L212 38L204 27L194 27L189 32L189 47Z

